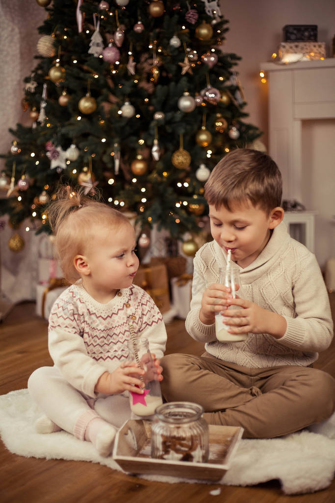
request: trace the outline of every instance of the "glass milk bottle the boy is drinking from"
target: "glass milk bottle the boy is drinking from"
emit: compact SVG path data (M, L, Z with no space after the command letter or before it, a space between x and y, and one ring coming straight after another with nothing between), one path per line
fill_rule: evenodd
M236 288L240 285L240 273L239 267L234 262L231 262L230 256L228 257L228 262L225 267L220 267L219 269L219 283L231 288L231 294L233 298L236 298ZM228 309L238 309L239 306L231 305ZM222 313L222 314L221 314ZM240 342L245 341L248 337L247 333L229 333L227 330L230 325L225 325L222 323L222 319L225 316L225 310L215 313L215 335L216 339L220 342Z

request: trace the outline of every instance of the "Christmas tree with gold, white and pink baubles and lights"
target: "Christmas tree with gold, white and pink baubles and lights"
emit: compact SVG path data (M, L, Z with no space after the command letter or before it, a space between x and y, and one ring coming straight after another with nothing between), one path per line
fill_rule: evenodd
M244 122L240 58L224 52L218 2L36 1L48 17L25 79L32 126L10 129L0 214L50 232L61 182L99 190L141 233L198 233L211 169L260 136Z

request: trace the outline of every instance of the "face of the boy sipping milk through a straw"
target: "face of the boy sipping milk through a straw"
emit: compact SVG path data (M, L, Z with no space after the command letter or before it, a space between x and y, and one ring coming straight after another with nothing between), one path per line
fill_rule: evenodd
M211 235L226 252L232 250L232 260L240 267L249 266L259 256L270 238L270 230L282 220L283 210L275 208L269 215L243 202L215 209L209 205Z

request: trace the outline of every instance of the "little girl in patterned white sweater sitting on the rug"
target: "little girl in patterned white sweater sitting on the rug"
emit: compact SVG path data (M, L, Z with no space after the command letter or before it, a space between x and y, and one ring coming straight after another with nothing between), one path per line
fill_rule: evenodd
M152 298L133 285L135 231L122 213L67 187L50 205L49 221L71 286L49 317L54 366L35 370L28 381L46 414L36 429L65 430L108 456L117 428L131 416L129 392L143 392L143 371L128 361L130 324L149 340L155 359L165 351L164 322ZM154 361L161 381L160 361Z

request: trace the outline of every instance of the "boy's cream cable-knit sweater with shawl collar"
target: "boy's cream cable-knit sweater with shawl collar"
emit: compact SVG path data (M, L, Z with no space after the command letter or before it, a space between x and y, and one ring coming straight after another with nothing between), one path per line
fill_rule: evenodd
M249 333L243 342L221 343L215 338L215 324L199 319L202 294L218 283L219 267L227 254L216 241L205 243L194 257L191 310L186 330L193 339L205 342L208 353L245 367L264 368L279 365L308 366L318 351L332 340L332 319L328 294L313 254L292 239L282 222L257 259L240 268L238 295L260 307L281 314L287 328L281 339L268 333Z

